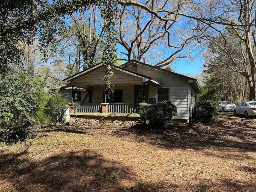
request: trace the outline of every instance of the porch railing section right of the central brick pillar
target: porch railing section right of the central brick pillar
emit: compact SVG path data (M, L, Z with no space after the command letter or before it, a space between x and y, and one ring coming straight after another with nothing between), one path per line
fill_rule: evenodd
M138 113L139 104L108 104L108 113Z

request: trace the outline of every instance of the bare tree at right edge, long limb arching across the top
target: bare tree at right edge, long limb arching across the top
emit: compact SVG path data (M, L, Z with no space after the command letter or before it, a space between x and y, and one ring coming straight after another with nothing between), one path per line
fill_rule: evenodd
M197 21L197 31L218 33L225 40L225 33L237 36L245 48L244 58L248 58L250 83L250 100L256 100L256 2L255 0L200 0L200 1L180 1L184 5L178 11L169 8L159 8L152 2L143 4L129 0L118 0L119 4L126 6L138 6L150 12L165 23L175 21L175 15ZM151 4L150 4L151 3ZM164 28L168 30L167 28ZM208 33L209 34L209 33ZM216 35L215 35L216 36ZM208 40L208 36L205 36ZM234 56L228 56L233 58ZM242 58L242 60L244 60ZM238 72L239 69L233 68Z

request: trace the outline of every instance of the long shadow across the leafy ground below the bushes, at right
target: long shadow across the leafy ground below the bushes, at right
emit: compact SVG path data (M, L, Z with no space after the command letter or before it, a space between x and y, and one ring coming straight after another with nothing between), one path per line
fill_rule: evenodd
M142 126L120 128L114 134L119 137L148 142L163 148L232 148L234 150L256 151L256 119L239 118L225 114L216 123L188 123L170 126L162 130L145 129Z

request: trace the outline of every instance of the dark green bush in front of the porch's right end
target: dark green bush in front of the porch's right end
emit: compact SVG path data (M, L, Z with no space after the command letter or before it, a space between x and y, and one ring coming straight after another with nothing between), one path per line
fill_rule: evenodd
M170 101L162 101L156 105L144 105L139 109L140 117L144 121L148 121L151 128L162 128L167 119L176 116L177 108Z

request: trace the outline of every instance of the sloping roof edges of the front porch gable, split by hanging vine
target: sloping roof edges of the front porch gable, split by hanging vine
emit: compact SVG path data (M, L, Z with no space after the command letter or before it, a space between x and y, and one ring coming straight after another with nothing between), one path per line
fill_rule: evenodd
M66 79L64 79L63 81L64 82L71 82L71 81L74 81L82 76L85 76L87 74L90 74L100 68L102 68L102 66L105 66L105 64L103 63L98 63L86 70L83 70L77 74L74 74ZM130 71L128 69L125 69L125 68L122 68L122 67L119 67L119 66L115 66L116 70L119 70L121 72L124 72L124 73L127 73L127 74L130 74L130 75L133 75L133 76L136 76L136 77L139 77L139 78L142 78L143 79L143 82L148 82L149 84L152 84L154 86L162 86L162 84L160 82L158 82L157 80L151 78L151 77L148 77L148 76L145 76L145 75L142 75L142 74L139 74L139 73L136 73L136 72L133 72L133 71Z

